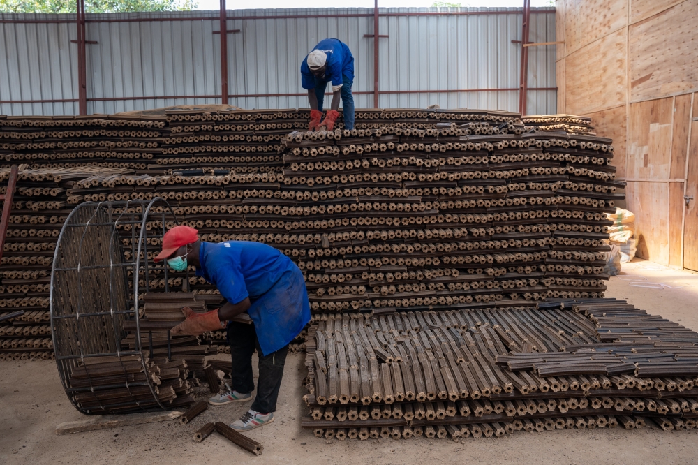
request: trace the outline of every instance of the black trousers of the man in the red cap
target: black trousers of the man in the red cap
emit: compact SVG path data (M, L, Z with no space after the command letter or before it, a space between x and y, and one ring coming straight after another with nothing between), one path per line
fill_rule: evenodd
M235 322L228 323L228 344L230 344L232 357L230 377L233 390L246 394L255 389L255 381L252 377L252 353L257 349L260 376L257 381L257 397L250 408L262 413L276 411L276 398L279 397L288 346L269 355L262 355L255 325Z

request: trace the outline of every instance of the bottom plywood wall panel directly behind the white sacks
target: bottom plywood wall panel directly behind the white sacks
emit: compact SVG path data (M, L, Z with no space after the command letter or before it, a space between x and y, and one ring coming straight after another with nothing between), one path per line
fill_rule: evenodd
M669 183L628 182L628 209L635 214L637 256L669 264Z

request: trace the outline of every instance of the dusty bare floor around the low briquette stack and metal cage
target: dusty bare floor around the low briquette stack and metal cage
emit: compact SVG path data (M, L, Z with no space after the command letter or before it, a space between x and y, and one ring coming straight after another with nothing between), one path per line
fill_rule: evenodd
M646 261L623 265L609 297L698 330L698 274ZM325 441L301 429L304 355L290 355L276 422L252 431L260 457L218 434L192 440L205 422L232 422L250 402L209 408L186 426L177 421L57 436L61 422L84 419L68 401L54 362L0 362L0 464L688 464L698 463L698 429L519 431L503 438Z

